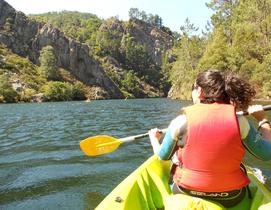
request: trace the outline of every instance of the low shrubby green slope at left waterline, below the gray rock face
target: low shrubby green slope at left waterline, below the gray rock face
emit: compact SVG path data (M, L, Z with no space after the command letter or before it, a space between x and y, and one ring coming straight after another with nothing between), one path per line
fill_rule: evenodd
M0 45L0 103L67 101L92 98L91 89L52 62L50 46L41 51L41 65Z

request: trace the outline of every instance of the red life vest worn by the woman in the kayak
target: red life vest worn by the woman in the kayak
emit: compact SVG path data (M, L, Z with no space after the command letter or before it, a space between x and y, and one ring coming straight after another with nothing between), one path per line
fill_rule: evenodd
M196 104L185 109L186 143L177 156L178 185L203 192L225 192L249 184L240 168L245 154L235 108L229 104Z

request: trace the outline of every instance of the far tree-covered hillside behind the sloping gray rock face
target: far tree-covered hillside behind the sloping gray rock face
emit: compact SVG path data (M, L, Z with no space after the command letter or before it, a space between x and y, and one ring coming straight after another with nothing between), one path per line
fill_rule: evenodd
M144 12L132 8L127 22L117 17L103 20L93 14L69 11L31 18L53 24L67 36L87 44L90 56L100 62L126 97L166 96L170 83L161 63L170 48L163 42L170 42L167 37L172 33L158 15L148 14L143 20L138 16L141 13ZM155 28L157 35L153 35Z

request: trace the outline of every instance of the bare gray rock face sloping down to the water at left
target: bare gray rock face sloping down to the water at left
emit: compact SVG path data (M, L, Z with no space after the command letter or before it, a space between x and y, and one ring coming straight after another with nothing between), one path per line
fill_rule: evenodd
M4 0L0 0L0 43L35 64L39 63L40 50L51 45L59 67L69 70L83 83L105 90L104 98L123 98L116 84L91 58L88 46L66 37L51 25L30 20Z

